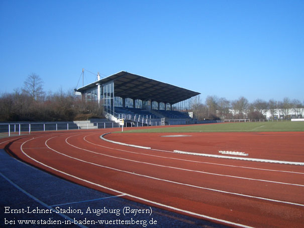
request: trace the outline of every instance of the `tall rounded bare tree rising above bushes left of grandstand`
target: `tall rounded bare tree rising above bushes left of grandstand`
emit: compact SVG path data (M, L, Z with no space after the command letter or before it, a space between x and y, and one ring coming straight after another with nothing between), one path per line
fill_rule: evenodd
M30 74L24 82L23 91L33 97L33 100L37 100L44 94L43 80L38 74Z

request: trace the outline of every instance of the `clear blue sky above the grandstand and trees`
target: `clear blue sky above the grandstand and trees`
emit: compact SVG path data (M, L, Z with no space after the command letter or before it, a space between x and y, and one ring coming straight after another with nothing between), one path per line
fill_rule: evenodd
M304 102L304 1L0 0L0 93L128 71L228 100ZM92 73L94 74L92 74Z

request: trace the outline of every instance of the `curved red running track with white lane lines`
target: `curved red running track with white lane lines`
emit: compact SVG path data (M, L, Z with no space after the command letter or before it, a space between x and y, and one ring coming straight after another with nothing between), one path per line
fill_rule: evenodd
M172 153L178 149L216 153L211 149L219 149L216 142L226 142L223 146L229 149L230 138L242 138L243 134L191 133L192 137L178 139L160 137L165 134L105 136L156 149L147 150L101 140L100 135L109 131L117 129L6 138L0 146L6 145L6 150L20 159L78 184L201 219L235 227L304 224L304 166ZM269 133L269 137L273 134L276 133ZM208 136L209 140L217 139L213 145L211 141L204 145ZM290 145L299 147L290 149L297 155L287 160L303 161L304 143L298 141L303 139L303 133L290 136ZM267 148L271 149L271 159L289 158L289 150L281 151L284 146L273 144L267 134L261 134L263 143L257 147L251 145L248 137L247 142L246 137L242 138L245 142L241 146L246 149L247 144L249 156L265 157L267 151L263 148Z

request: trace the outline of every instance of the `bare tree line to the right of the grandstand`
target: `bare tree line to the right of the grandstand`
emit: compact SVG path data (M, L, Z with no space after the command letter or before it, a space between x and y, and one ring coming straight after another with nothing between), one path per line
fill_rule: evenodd
M197 120L262 120L266 118L267 111L270 111L271 118L274 119L279 113L287 117L290 111L296 116L302 115L303 108L304 102L301 103L297 99L291 100L288 97L284 97L281 101L256 99L249 102L244 96L236 100L227 100L225 97L213 95L207 96L205 103L201 102L200 96L192 98L193 117Z

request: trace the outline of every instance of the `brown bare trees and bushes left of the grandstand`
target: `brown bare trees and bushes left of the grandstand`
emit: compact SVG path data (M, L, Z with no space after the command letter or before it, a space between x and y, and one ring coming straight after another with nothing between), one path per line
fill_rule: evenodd
M32 73L24 86L0 95L0 121L74 121L104 118L103 105L84 102L74 91L45 92L43 80Z

